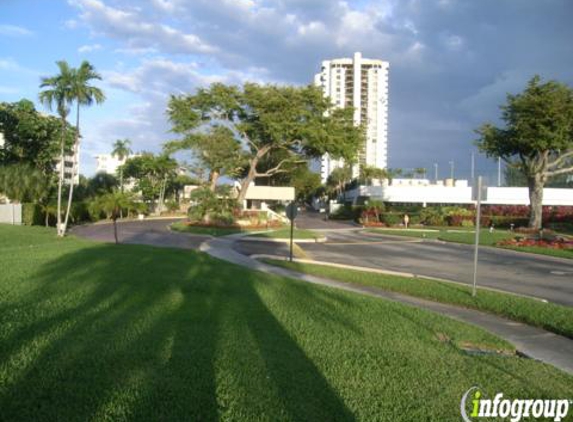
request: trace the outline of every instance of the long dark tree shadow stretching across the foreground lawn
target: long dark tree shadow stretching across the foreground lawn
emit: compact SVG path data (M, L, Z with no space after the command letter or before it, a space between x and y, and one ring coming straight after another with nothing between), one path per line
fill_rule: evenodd
M3 420L354 420L284 327L328 322L327 291L132 245L79 249L29 282L3 309L15 327L0 339Z

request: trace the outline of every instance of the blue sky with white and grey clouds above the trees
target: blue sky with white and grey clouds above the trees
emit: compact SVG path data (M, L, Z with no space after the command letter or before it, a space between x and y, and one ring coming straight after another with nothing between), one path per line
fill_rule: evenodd
M108 100L83 112L90 174L115 139L158 151L171 93L306 84L321 60L362 51L390 62L390 166L445 176L454 160L463 176L507 92L536 73L573 85L572 18L569 0L2 0L0 101L36 100L56 60L94 64Z

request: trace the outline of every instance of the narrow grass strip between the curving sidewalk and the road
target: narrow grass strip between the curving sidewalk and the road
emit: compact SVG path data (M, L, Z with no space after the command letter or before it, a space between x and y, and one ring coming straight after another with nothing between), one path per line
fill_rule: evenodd
M319 277L379 287L435 302L489 312L573 339L573 308L568 306L485 289L478 290L477 296L472 297L470 287L425 278L400 277L300 262L290 263L270 259L264 261Z

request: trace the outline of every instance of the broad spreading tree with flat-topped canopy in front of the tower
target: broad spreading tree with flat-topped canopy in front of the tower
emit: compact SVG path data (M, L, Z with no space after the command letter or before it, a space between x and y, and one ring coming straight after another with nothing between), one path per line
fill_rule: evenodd
M353 124L353 110L334 108L314 86L213 84L195 95L171 97L168 114L175 132L220 123L241 140L248 162L239 203L256 178L284 173L293 161L326 152L353 162L364 142L363 128ZM261 171L259 163L277 151L286 158Z

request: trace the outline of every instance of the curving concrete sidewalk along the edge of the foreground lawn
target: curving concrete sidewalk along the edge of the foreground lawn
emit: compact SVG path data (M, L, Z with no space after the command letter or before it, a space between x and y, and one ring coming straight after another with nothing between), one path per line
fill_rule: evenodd
M298 273L285 268L274 267L242 255L233 249L233 243L243 234L210 239L203 242L200 250L219 259L238 265L275 274L283 277L295 278L312 284L333 287L345 291L378 297L404 303L418 308L446 315L456 320L481 327L512 343L519 353L551 364L565 372L573 374L573 340L545 331L541 328L531 327L515 321L510 321L495 315L480 311L460 308L452 305L431 302L399 293L388 292L369 286L352 285L335 280L315 277Z

